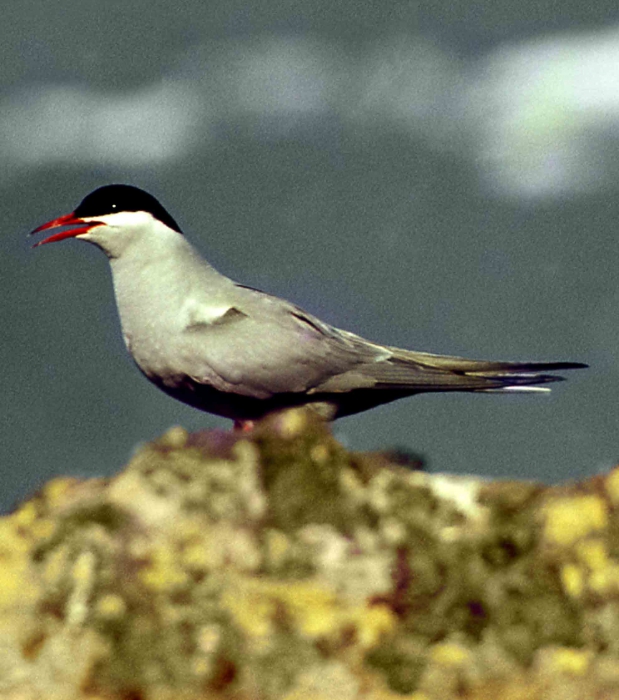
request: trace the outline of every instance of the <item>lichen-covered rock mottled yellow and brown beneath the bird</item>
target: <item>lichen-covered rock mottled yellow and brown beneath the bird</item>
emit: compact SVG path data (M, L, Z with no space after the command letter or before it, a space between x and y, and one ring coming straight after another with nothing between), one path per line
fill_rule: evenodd
M302 410L0 521L2 700L619 697L619 470L429 475Z

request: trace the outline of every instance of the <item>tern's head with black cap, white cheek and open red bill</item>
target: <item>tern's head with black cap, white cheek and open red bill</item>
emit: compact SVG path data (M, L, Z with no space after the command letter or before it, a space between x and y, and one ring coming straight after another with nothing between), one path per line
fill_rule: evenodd
M54 228L65 230L39 241L34 247L78 238L93 243L114 258L144 235L156 232L182 235L179 225L155 197L131 185L99 187L84 197L74 211L38 226L32 233Z

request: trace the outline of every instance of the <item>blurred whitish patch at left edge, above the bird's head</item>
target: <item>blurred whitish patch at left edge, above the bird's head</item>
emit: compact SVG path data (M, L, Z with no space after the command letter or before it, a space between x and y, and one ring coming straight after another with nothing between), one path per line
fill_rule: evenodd
M17 166L140 167L184 156L205 126L199 94L181 81L121 94L36 86L0 105L0 149Z

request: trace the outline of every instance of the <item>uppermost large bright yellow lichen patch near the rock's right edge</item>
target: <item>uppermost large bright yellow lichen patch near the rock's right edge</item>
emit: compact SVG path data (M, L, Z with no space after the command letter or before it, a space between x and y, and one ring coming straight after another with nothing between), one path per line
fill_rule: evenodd
M544 535L562 546L574 544L606 527L608 511L598 496L574 496L549 501L544 507Z

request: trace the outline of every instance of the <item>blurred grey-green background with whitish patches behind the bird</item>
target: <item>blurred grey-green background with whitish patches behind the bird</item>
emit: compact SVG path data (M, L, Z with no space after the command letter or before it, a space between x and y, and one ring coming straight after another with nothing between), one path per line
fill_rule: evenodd
M99 251L30 250L109 182L159 197L220 271L370 339L591 364L549 397L344 419L348 446L546 481L618 461L616 3L20 0L0 65L2 507L171 425L229 426L133 367Z

